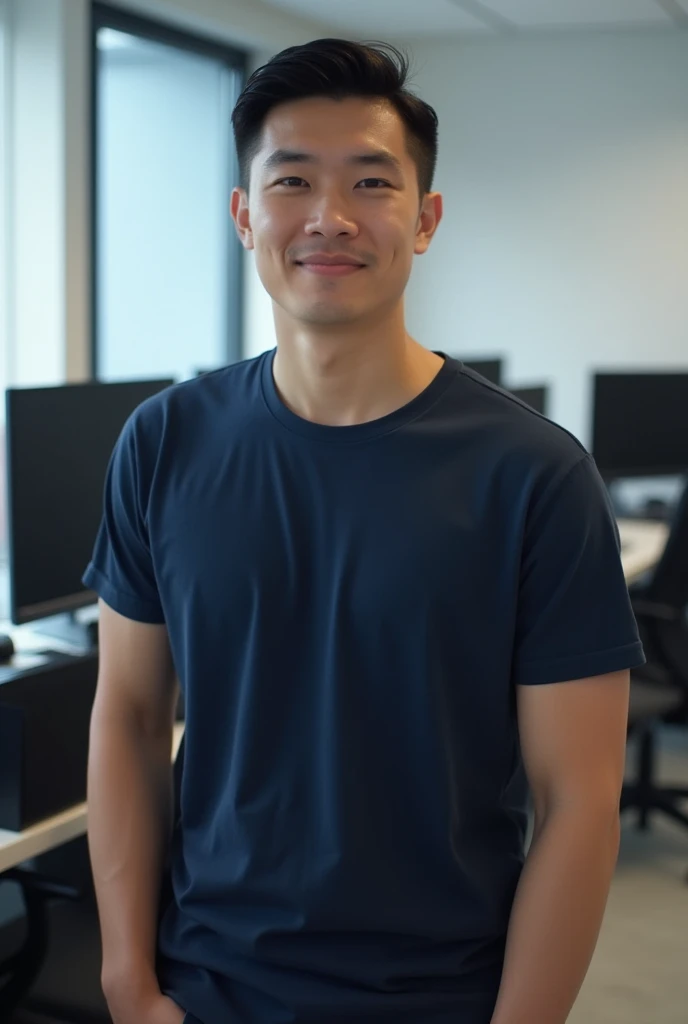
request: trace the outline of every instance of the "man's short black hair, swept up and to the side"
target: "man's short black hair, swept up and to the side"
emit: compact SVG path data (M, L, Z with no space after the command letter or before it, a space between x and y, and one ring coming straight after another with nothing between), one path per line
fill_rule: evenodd
M421 195L430 191L437 163L437 115L406 88L408 69L408 57L390 43L314 39L282 50L251 75L231 115L242 184L248 187L263 124L273 108L314 96L370 96L389 100L403 121Z

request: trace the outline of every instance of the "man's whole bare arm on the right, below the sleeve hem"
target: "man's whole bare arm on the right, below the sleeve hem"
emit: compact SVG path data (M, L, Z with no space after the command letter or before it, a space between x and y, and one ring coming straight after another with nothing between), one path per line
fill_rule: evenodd
M535 830L492 1024L564 1024L597 943L618 855L629 673L518 688Z

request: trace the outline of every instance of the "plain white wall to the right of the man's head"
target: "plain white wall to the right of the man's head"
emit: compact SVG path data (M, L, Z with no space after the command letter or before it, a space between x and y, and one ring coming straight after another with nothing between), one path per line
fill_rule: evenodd
M688 369L688 33L413 46L445 216L408 293L429 347L505 352L587 442L593 368Z

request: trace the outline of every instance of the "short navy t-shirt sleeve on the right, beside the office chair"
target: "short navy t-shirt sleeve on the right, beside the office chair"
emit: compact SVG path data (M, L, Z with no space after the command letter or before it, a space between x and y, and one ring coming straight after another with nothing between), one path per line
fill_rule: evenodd
M516 616L517 684L643 665L618 528L593 459L545 489L526 527Z

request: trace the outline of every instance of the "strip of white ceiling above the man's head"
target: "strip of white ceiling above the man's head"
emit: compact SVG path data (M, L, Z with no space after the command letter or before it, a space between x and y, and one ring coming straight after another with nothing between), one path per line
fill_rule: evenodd
M688 28L688 0L265 0L362 38Z

